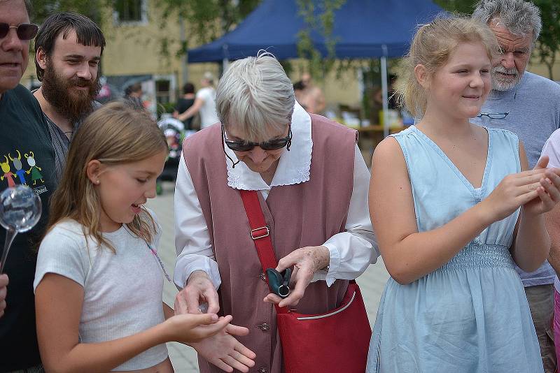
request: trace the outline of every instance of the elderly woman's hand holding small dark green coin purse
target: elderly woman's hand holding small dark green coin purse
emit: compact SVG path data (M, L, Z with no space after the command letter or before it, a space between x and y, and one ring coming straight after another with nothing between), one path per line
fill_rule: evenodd
M286 268L293 266L293 272L290 279L290 295L287 298L280 298L276 294L269 294L265 297L265 302L276 303L280 307L295 306L303 294L307 286L311 283L315 272L321 268L325 268L330 263L330 253L324 246L302 247L292 251L278 261L276 270L283 272Z

